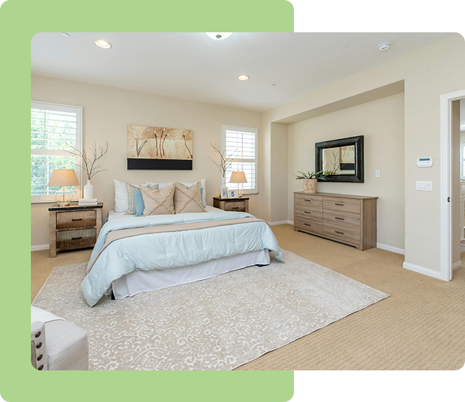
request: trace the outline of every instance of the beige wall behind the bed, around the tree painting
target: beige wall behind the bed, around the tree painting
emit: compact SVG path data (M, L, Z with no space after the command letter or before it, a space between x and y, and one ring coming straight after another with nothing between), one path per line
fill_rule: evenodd
M93 180L95 197L104 202L104 216L114 206L113 179L130 183L145 181L194 181L206 179L207 203L218 195L221 184L219 170L209 156L215 157L209 142L221 144L221 126L254 127L258 129L259 144L262 130L262 113L223 107L202 102L192 102L135 91L125 91L99 85L32 76L31 99L42 102L70 104L82 107L83 145L91 142L109 142L109 153L102 159L106 172ZM193 170L127 170L126 125L190 129L194 131ZM260 177L260 171L258 172ZM252 214L262 217L262 208L250 196ZM31 205L31 243L49 243L48 208L52 204Z

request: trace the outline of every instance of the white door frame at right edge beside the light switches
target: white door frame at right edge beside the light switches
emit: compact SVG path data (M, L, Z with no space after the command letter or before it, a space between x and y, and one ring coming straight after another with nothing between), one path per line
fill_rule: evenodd
M440 96L440 278L452 280L452 102L465 98L465 89Z

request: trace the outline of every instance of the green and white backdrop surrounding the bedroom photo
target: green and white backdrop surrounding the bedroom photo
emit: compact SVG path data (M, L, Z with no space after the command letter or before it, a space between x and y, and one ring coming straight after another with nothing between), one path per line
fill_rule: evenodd
M8 400L278 400L459 397L457 375L328 376L295 372L37 372L30 301L30 41L37 32L460 32L464 1L30 1L0 6L1 337ZM19 152L18 152L19 151ZM27 211L27 213L23 213ZM6 212L6 213L5 213ZM464 317L462 317L464 319ZM312 370L308 367L308 370Z

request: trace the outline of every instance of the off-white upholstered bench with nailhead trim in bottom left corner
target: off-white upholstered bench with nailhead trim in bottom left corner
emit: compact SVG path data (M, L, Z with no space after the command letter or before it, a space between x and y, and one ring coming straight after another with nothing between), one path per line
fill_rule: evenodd
M38 370L89 370L87 331L31 306L31 363Z

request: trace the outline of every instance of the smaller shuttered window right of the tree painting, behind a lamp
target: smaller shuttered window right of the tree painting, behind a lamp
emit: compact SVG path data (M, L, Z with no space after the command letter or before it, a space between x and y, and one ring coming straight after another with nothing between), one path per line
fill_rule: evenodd
M237 188L236 183L229 183L231 173L245 172L247 183L242 184L245 194L257 194L257 141L258 130L247 127L223 126L223 145L226 155L233 162L226 171L227 188Z

